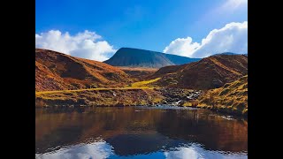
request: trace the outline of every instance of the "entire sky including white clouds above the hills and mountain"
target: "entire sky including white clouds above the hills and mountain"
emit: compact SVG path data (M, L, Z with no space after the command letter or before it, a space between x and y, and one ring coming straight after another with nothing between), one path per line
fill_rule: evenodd
M248 53L248 0L35 0L35 48L103 61L122 47Z

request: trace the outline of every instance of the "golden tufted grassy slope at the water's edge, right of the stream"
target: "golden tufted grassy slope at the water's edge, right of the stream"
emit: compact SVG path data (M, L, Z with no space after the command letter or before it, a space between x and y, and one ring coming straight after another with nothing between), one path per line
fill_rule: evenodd
M248 115L248 75L207 91L199 100L201 107L214 106L217 110Z

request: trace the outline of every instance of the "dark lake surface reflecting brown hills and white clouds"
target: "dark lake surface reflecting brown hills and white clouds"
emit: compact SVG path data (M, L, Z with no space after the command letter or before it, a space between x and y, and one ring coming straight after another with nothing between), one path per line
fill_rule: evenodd
M35 110L35 158L248 158L248 121L210 110Z

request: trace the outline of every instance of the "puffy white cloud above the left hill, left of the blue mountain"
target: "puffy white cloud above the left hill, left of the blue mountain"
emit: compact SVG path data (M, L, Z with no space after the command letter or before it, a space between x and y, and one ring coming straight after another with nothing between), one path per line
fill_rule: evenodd
M88 30L75 35L50 30L47 33L35 34L35 48L51 49L74 57L104 61L108 59L107 55L116 50L108 42L98 41L101 38L99 34Z

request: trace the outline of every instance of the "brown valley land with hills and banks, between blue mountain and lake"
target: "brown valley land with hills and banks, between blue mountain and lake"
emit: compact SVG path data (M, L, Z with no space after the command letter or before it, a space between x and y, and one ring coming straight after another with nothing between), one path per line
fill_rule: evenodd
M240 88L233 83L248 79L248 56L220 54L188 64L151 66L112 66L35 49L35 107L165 104L247 116L248 82Z

